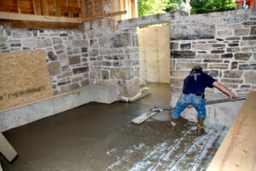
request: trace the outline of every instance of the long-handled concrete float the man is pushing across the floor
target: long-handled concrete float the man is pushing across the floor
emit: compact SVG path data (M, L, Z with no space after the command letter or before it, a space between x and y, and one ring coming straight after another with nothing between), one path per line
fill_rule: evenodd
M212 100L212 101L206 101L206 105L224 103L224 102L229 102L229 101L245 100L245 99L246 99L246 97L237 97L233 100L230 100L230 99ZM131 123L139 125L139 124L143 123L144 121L148 120L150 117L154 117L154 115L156 115L160 111L172 111L172 110L173 110L173 107L168 108L168 109L162 109L160 107L154 106L154 108L150 109L149 112L144 112L141 116L136 117L135 119L133 119L131 121Z

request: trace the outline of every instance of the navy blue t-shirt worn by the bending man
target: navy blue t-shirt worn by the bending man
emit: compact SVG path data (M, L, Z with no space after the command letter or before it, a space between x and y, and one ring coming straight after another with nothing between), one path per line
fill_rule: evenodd
M192 73L185 78L183 84L183 93L201 94L205 93L205 88L213 88L212 83L216 80L203 72Z

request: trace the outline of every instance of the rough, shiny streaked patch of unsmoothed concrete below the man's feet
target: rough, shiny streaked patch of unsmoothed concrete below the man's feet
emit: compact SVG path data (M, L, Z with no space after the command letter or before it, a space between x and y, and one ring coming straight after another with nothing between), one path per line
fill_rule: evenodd
M207 127L207 134L195 136L195 128L184 120L175 131L169 122L126 125L109 142L114 162L106 170L206 170L227 130Z

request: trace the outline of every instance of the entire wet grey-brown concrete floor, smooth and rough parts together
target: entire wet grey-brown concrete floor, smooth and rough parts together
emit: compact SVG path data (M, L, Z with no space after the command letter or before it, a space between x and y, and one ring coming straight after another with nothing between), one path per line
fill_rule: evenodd
M168 106L170 87L150 83L150 95L132 103L90 103L3 134L19 153L4 171L205 170L225 128L193 134L194 123L131 120L155 105ZM166 113L168 116L168 113Z

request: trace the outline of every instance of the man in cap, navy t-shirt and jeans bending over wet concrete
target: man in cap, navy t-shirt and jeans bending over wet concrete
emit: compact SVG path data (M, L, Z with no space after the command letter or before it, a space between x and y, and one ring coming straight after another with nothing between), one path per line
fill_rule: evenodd
M188 77L184 79L183 83L183 94L181 94L177 104L172 111L172 126L176 126L177 120L180 117L181 112L186 107L195 107L197 111L197 133L201 135L203 132L202 125L206 119L206 106L204 100L205 88L216 87L221 90L224 94L227 94L232 100L235 95L224 85L218 83L211 76L203 72L201 66L194 66L190 71Z

